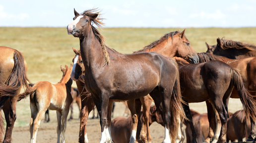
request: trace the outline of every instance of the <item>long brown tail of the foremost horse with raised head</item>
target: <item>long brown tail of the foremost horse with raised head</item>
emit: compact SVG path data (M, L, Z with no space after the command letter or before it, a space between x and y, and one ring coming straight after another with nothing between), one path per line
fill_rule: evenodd
M173 87L173 92L171 96L171 102L170 102L170 136L172 143L175 143L178 130L180 130L180 124L182 124L182 121L186 118L182 103L186 104L185 101L182 99L181 95L181 88L180 88L180 74L178 70L177 62L173 61L173 63L176 66L177 72L176 72L176 79ZM180 124L179 124L180 122Z

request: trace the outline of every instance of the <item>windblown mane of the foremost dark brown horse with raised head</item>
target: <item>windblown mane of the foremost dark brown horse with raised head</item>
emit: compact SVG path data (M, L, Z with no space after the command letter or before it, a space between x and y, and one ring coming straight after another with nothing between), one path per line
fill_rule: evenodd
M85 11L83 11L83 13L81 15L86 15L88 17L92 17L95 14L98 14L100 16L97 8L85 10ZM104 23L101 21L104 18L100 18L99 16L95 19L91 18L91 22L95 23L99 28L103 28ZM101 48L102 48L103 54L104 54L105 63L108 63L110 59L109 59L109 53L107 51L107 46L105 44L105 38L102 34L100 34L100 32L92 24L91 24L91 27L92 27L93 34L100 42L100 45L101 45Z

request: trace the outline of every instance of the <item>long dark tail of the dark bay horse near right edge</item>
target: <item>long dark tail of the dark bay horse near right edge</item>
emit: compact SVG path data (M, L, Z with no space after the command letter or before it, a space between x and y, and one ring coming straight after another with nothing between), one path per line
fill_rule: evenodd
M231 80L243 104L243 108L246 113L246 123L250 123L250 116L255 121L256 101L253 99L253 95L251 95L245 88L241 75L233 68L231 69Z

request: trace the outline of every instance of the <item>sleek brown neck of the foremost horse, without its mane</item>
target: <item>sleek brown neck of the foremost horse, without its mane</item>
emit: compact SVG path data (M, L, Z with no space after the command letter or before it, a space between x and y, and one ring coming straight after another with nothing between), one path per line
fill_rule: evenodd
M98 66L104 62L104 53L101 44L90 28L86 37L80 38L80 52L85 70Z

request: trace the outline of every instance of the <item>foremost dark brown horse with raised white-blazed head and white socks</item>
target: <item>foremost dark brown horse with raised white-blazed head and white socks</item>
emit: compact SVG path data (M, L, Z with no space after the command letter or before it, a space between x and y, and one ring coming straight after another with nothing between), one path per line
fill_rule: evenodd
M109 131L111 122L107 121L107 113L110 112L108 104L112 104L109 99L134 100L148 94L154 99L157 108L163 111L165 123L163 143L175 141L179 121L184 117L178 88L179 72L175 61L156 52L121 54L108 48L105 46L103 36L91 25L91 21L98 26L103 24L97 18L98 13L95 13L95 9L86 10L82 14L74 10L74 13L74 21L67 26L67 30L69 34L80 39L81 56L86 73L86 88L92 94L100 113L102 132L100 143L111 142ZM165 75L165 81L163 81L163 75ZM143 82L139 80L140 78ZM173 107L171 113L170 106ZM133 115L134 122L137 115L136 113Z

